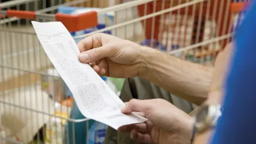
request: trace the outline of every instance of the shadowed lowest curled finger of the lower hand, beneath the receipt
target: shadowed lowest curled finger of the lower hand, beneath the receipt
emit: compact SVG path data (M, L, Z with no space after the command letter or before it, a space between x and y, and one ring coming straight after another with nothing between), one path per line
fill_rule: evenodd
M149 134L142 134L136 130L131 131L131 138L140 143L152 143L151 137Z

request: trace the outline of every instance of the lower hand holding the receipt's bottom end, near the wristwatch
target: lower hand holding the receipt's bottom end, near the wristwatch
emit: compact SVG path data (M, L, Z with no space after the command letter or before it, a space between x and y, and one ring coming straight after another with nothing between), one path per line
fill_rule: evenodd
M136 100L126 103L122 113L137 111L149 121L122 126L119 132L131 132L131 138L140 143L189 143L192 119L163 99Z

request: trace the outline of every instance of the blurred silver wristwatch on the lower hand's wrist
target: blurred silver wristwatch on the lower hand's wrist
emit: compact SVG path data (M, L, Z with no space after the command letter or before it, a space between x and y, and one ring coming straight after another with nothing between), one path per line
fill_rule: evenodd
M221 105L204 104L201 106L192 116L194 119L194 125L191 143L193 143L195 133L202 133L205 130L214 128L217 125L221 113Z

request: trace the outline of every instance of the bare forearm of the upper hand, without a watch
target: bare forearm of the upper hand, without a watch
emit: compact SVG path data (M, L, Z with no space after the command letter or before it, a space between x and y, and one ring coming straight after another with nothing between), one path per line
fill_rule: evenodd
M145 49L141 77L190 102L200 104L206 99L213 68Z

